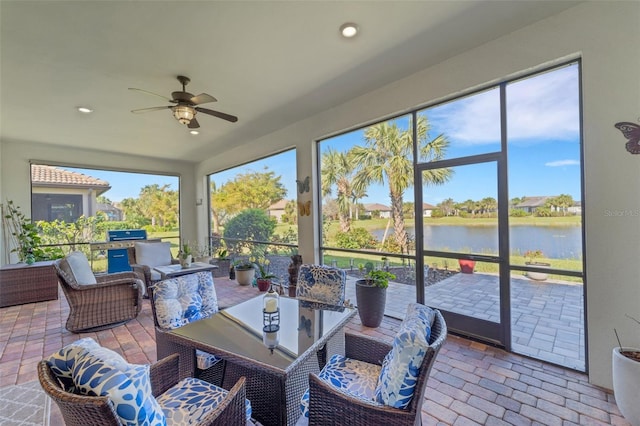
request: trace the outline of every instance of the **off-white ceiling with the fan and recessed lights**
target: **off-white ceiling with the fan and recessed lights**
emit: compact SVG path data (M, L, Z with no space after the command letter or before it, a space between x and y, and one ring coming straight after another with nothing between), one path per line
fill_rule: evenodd
M1 0L0 137L197 162L575 4ZM170 97L177 75L238 122L130 112L168 103L129 87Z

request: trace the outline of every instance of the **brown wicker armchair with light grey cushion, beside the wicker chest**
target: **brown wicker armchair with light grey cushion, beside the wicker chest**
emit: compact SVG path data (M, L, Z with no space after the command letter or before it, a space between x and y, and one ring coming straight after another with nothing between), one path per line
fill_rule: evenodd
M67 330L73 333L103 330L138 316L144 284L135 273L98 275L96 284L79 284L67 258L56 261L54 266L69 303Z

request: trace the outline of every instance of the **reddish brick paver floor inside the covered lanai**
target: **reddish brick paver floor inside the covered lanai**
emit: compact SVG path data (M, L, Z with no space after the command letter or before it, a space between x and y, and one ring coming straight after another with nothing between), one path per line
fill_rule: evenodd
M222 306L259 294L253 287L216 278ZM0 387L37 380L36 364L63 345L91 336L129 362L156 361L153 319L145 300L138 318L97 333L73 334L64 328L68 313L58 300L0 309ZM399 321L385 317L376 329L356 316L347 328L391 340ZM424 425L619 425L613 395L588 383L585 374L485 344L449 335L436 359L422 408ZM52 407L51 425L61 425Z

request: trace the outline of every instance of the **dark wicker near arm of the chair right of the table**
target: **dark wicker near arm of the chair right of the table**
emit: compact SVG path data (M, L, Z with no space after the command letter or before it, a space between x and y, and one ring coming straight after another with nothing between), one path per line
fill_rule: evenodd
M309 375L309 425L413 425L415 413L356 398Z

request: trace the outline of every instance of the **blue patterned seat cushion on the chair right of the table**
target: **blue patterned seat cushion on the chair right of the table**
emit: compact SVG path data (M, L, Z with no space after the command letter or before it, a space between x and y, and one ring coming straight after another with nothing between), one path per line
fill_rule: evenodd
M335 354L318 377L356 398L373 401L379 375L379 365ZM309 417L309 389L300 398L300 411Z

